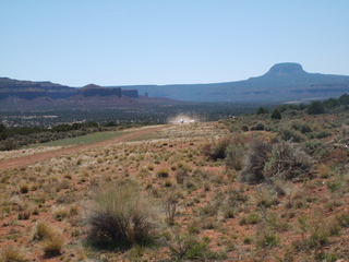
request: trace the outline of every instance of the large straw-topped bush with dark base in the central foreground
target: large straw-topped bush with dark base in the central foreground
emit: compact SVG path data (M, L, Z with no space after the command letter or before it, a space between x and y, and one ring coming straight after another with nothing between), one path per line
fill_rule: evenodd
M155 210L137 187L108 187L95 195L87 216L87 242L99 247L129 247L152 240Z

